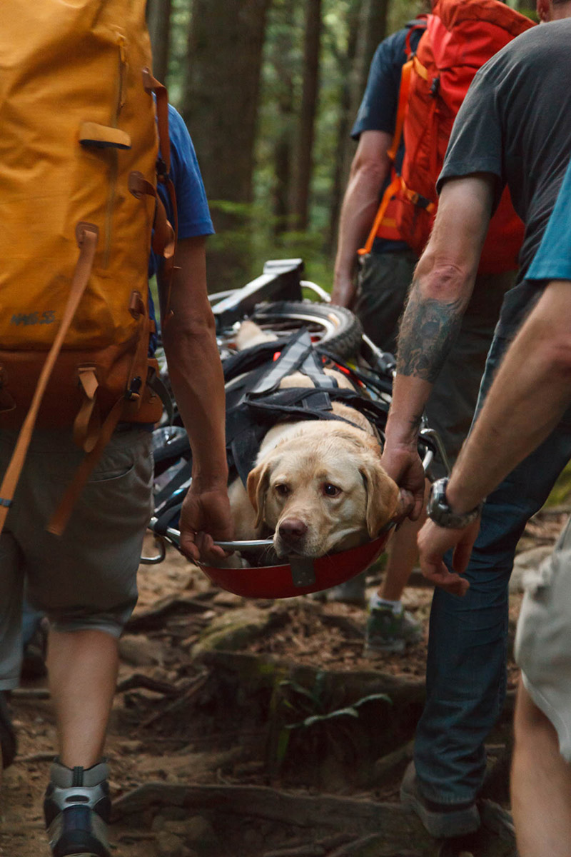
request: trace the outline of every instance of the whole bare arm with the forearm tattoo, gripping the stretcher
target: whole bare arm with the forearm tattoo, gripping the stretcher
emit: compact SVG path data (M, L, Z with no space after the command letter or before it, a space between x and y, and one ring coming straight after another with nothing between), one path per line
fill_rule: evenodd
M444 185L401 321L383 462L413 495L412 518L418 518L424 498L416 448L420 419L472 294L490 221L492 182L480 174Z

